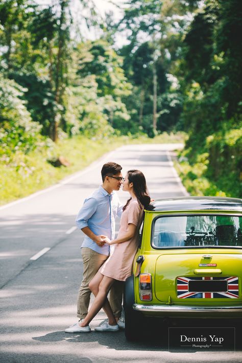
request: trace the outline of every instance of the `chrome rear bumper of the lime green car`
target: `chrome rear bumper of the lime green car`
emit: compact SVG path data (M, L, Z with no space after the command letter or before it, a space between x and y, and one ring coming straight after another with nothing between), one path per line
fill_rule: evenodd
M213 314L228 313L231 315L241 315L242 305L240 306L181 306L181 305L142 305L134 304L133 309L144 313L144 315L157 315L157 316L184 316L186 314L199 316Z

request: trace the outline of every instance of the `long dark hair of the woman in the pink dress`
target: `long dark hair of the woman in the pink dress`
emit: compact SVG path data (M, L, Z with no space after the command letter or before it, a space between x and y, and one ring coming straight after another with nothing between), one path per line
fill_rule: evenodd
M146 209L151 201L149 196L149 192L146 186L146 178L144 177L142 171L140 170L129 170L127 172L127 176L129 179L129 183L133 183L133 191L138 200L139 206ZM123 211L127 208L131 198L127 200L126 205L123 208Z

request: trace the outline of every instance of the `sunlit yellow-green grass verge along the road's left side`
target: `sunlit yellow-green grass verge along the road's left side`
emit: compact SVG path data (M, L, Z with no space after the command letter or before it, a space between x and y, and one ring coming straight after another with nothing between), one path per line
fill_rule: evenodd
M71 139L59 140L50 147L27 155L17 152L12 155L11 162L0 162L0 205L50 187L122 145L184 143L185 138L186 134L183 132L165 132L154 139L134 135L94 140L78 135ZM67 167L54 167L50 163L59 156L68 162Z

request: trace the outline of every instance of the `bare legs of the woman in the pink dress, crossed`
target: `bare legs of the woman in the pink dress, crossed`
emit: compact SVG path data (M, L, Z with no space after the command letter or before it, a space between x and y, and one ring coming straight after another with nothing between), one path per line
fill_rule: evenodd
M94 278L91 280L89 284L89 287L92 290L92 292L96 295L96 298L93 301L86 317L83 319L81 323L79 323L80 326L87 326L90 323L90 321L93 319L93 317L101 310L102 307L104 308L104 311L108 315L109 324L116 325L115 317L113 315L112 309L107 299L108 292L113 282L114 279L107 276L103 276L99 272L94 276Z

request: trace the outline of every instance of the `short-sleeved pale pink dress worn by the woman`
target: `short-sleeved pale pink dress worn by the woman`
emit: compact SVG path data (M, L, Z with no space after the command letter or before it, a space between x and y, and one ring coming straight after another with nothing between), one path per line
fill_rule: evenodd
M125 281L131 276L132 263L138 248L142 217L143 208L140 208L136 198L131 199L128 207L122 213L117 238L121 238L127 232L129 223L137 226L135 235L128 241L114 244L113 253L99 269L102 275L119 281Z

